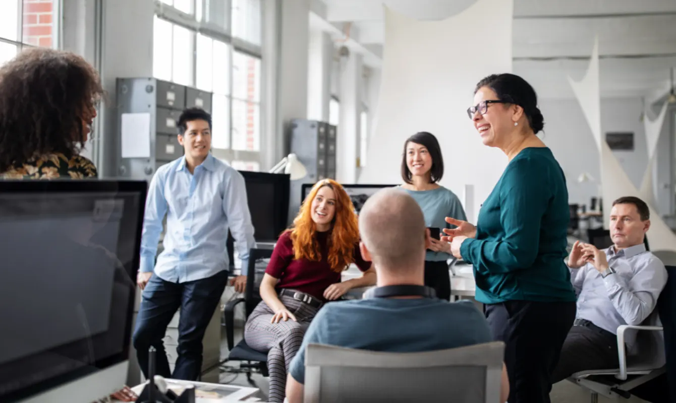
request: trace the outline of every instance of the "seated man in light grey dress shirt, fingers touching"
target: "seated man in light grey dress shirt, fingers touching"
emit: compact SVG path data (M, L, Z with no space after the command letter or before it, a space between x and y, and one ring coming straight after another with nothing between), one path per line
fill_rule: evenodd
M622 197L610 211L610 248L598 250L575 242L568 266L577 293L577 319L552 383L579 371L618 368L617 327L639 325L657 306L667 269L646 250L648 228L648 205L637 197ZM627 348L634 342L635 337L627 334Z

